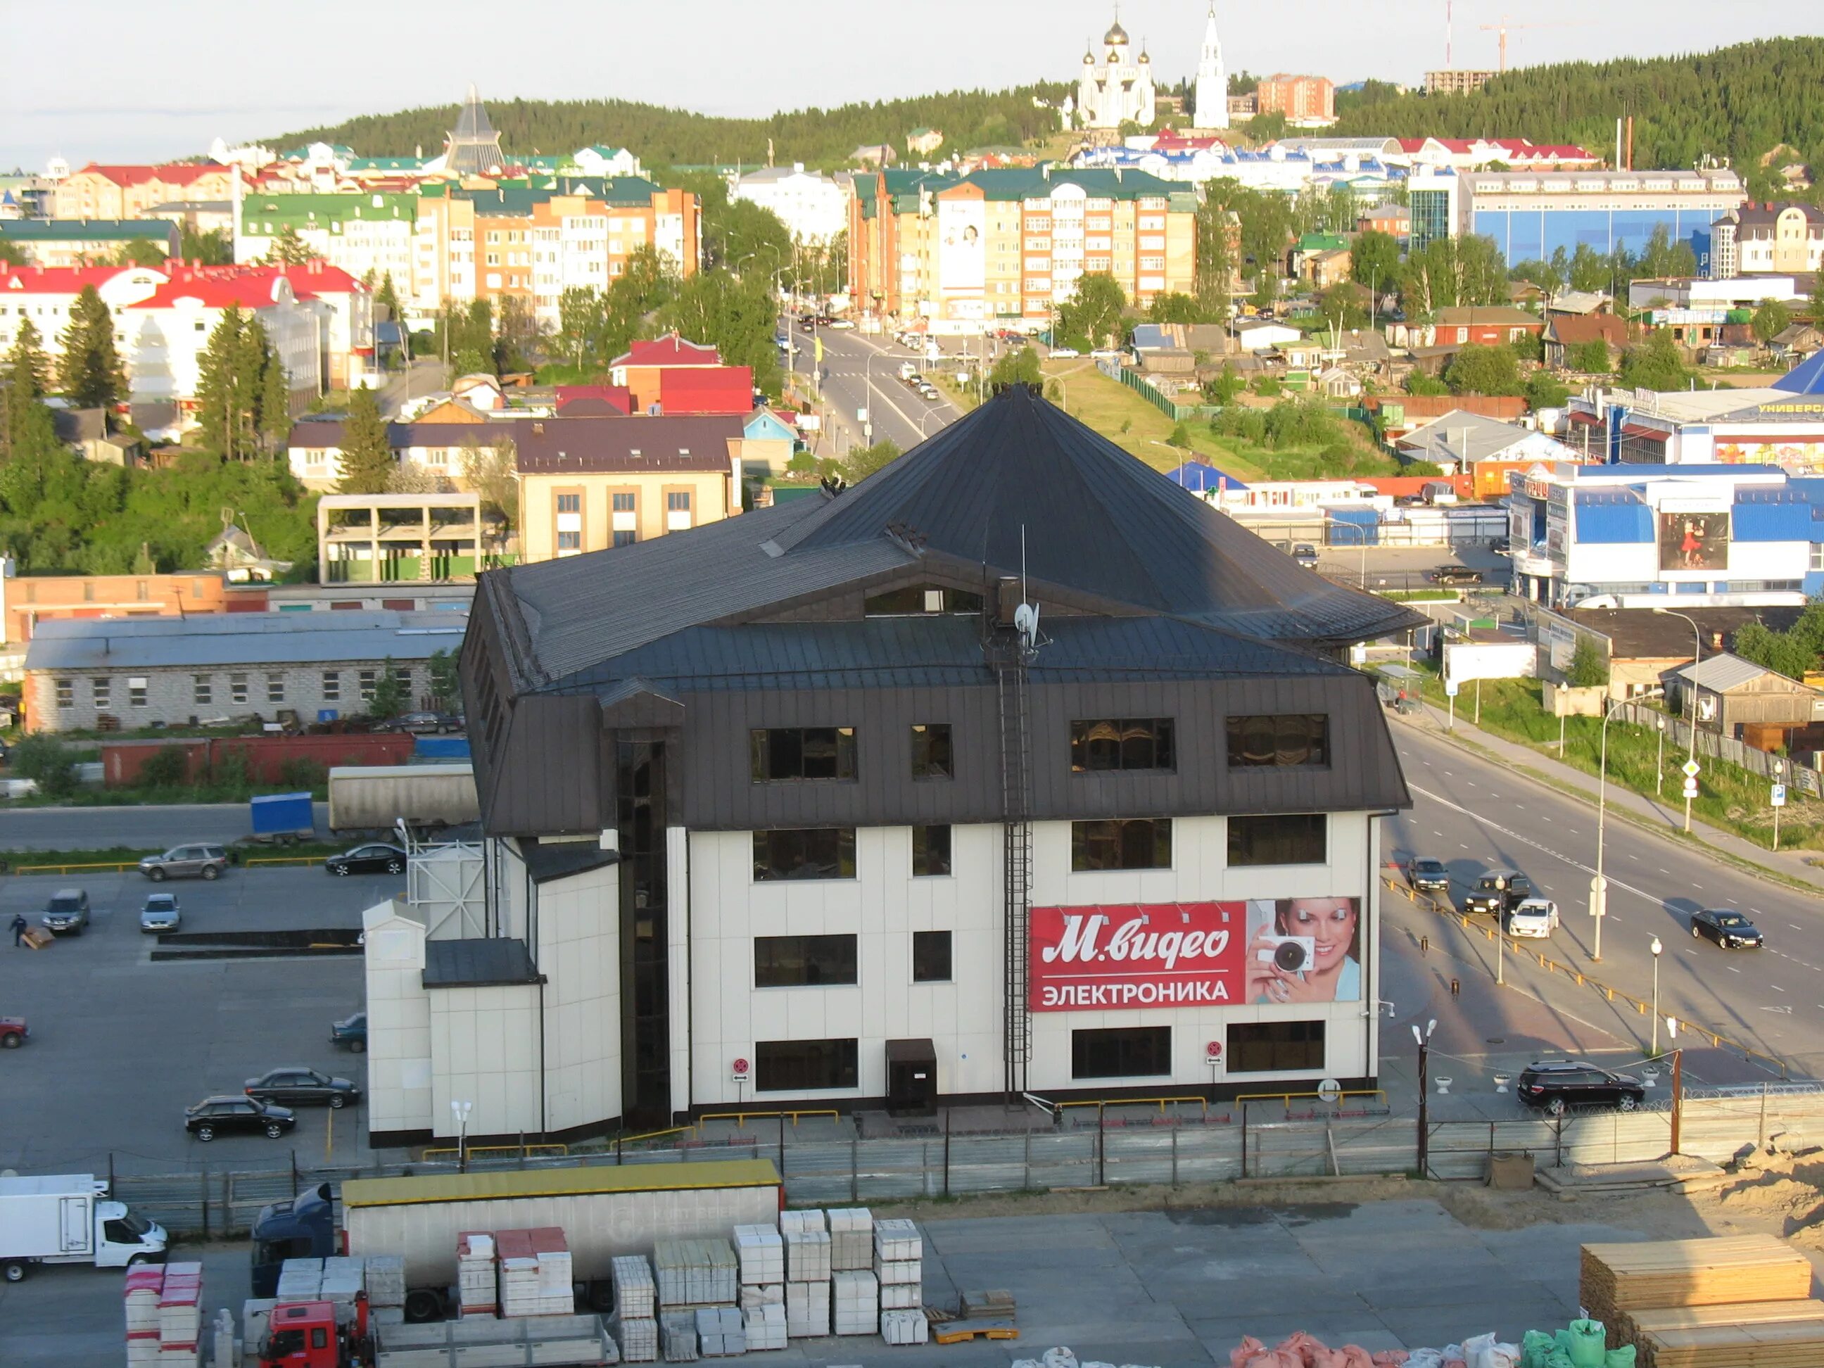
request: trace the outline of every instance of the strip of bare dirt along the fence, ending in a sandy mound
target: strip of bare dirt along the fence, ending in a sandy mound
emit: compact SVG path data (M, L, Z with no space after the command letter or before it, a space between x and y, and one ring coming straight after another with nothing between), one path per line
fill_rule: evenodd
M1665 1189L1561 1198L1543 1187L1496 1191L1466 1182L1414 1182L1403 1176L1313 1178L1306 1182L1187 1184L1051 1193L934 1198L876 1204L877 1217L945 1220L963 1217L1040 1217L1176 1207L1280 1207L1308 1202L1384 1202L1415 1197L1439 1202L1465 1226L1521 1229L1541 1224L1607 1224L1658 1238L1700 1235L1778 1235L1824 1255L1824 1147L1797 1155L1755 1155L1729 1166L1713 1191Z

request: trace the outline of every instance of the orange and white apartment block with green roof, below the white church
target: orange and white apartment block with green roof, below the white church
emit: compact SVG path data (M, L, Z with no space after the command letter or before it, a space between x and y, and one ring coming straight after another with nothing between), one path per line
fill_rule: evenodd
M855 177L850 285L883 314L938 332L1040 323L1089 272L1142 305L1189 292L1197 195L1120 168Z

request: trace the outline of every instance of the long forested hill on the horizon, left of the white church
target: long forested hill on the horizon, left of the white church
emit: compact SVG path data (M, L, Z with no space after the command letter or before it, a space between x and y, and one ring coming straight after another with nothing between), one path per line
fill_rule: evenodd
M737 161L762 164L766 140L772 139L775 162L843 166L861 144L886 142L905 157L905 139L914 128L939 130L948 148L1043 137L1058 128L1054 106L1063 93L1063 86L950 91L835 109L793 109L768 119L715 119L629 100L489 100L485 93L482 100L509 153L565 153L606 144L631 148L649 168ZM341 142L363 157L409 155L423 148L427 157L434 157L454 126L456 106L441 106L361 115L264 142L279 148Z

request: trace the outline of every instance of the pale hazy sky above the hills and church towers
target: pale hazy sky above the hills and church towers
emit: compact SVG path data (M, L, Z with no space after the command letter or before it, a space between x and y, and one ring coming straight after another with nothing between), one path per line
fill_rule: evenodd
M0 170L150 161L461 98L649 100L762 115L1074 78L1107 0L64 0L11 4ZM1191 75L1207 0L1127 0L1166 80ZM1702 51L1824 31L1791 0L1456 0L1456 66L1494 66L1479 24L1516 13L1514 66ZM1806 20L1806 15L1811 15ZM1417 82L1445 60L1445 0L1217 2L1229 69ZM613 130L602 133L613 139ZM410 148L358 148L361 153ZM638 148L635 148L638 151Z

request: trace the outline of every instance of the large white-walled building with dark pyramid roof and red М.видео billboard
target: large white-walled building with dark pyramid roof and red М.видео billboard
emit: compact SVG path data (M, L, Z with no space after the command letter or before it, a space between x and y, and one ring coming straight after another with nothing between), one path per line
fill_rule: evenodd
M489 925L569 1073L471 1133L1370 1080L1410 799L1341 660L1410 622L1023 387L852 489L483 575ZM441 1131L483 1083L430 1054Z

